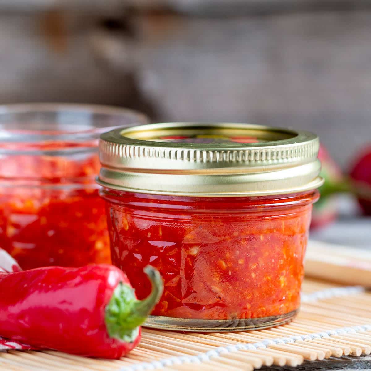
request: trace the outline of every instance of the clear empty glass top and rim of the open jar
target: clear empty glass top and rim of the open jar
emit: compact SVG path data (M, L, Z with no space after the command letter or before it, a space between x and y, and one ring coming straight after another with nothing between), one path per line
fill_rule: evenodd
M114 128L148 122L145 115L139 112L106 105L70 103L0 105L0 153L38 154L42 151L37 145L45 142L83 145L84 142L99 139L103 132ZM33 148L33 145L36 147ZM68 147L61 147L58 151L76 150Z

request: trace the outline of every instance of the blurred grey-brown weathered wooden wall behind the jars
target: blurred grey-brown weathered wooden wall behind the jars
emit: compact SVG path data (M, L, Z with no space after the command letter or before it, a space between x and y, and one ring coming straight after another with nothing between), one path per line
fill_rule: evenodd
M0 104L128 106L155 121L371 143L370 0L2 0Z

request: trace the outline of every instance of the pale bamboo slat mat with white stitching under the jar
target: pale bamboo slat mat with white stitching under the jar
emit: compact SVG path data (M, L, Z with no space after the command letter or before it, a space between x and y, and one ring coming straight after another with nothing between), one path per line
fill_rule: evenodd
M237 371L371 353L371 293L306 279L302 301L299 315L276 328L207 334L143 329L141 343L120 360L14 350L0 354L0 370Z

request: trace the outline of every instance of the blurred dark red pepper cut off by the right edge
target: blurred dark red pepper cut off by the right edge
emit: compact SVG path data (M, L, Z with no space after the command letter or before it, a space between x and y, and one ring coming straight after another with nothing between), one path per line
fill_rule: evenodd
M371 145L361 152L349 175L362 211L371 215Z

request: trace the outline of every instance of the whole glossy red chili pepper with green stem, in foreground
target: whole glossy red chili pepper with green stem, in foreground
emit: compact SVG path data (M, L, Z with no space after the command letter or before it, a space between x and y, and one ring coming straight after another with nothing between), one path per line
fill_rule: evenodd
M143 301L111 265L0 272L0 335L40 349L122 357L138 344L139 325L162 293L157 270L145 272L153 289Z

